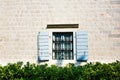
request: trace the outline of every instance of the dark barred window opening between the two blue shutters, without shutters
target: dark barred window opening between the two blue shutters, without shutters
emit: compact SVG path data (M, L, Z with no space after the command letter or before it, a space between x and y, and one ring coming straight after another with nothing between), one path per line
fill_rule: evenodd
M73 60L73 32L53 32L52 58Z

